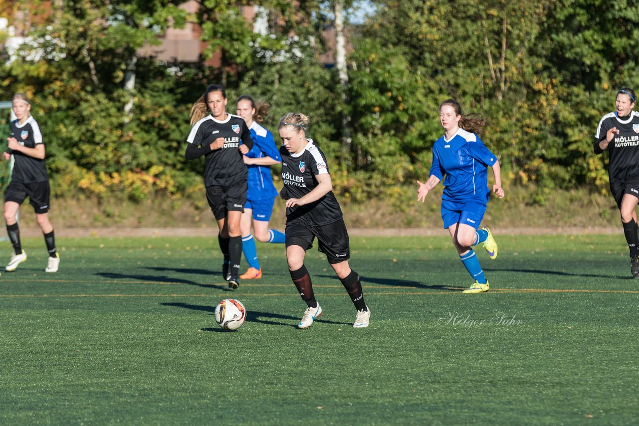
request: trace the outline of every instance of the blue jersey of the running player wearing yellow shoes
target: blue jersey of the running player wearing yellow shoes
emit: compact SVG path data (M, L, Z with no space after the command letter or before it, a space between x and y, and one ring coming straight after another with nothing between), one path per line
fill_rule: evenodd
M430 174L443 179L443 200L463 202L469 199L488 201L488 166L497 156L486 148L475 133L459 130L450 138L445 135L433 146Z

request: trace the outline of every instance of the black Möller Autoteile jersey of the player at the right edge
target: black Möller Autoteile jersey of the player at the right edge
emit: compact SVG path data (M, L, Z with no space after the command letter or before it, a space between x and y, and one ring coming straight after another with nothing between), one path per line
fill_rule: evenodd
M599 141L606 139L606 132L616 127L619 130L608 144L608 178L613 181L626 181L639 177L639 112L631 111L624 119L617 112L606 114L599 121L595 133L594 151L602 153Z

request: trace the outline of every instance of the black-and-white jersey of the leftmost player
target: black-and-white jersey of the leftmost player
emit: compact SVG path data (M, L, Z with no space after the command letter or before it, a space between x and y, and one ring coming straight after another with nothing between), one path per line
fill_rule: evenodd
M33 116L29 116L22 125L18 124L18 120L13 120L11 122L11 136L15 137L20 145L27 148L35 148L37 144L43 143L40 126ZM31 183L49 180L44 158L35 158L20 151L11 151L11 153L15 159L12 181Z

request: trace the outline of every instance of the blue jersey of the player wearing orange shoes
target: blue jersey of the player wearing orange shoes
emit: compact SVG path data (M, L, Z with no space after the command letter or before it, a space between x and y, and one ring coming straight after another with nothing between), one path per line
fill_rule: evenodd
M250 137L253 140L253 148L247 156L250 158L261 158L270 156L273 160L281 161L279 149L275 146L271 132L258 125L255 121L249 127ZM249 164L249 190L247 200L261 200L277 197L277 190L273 185L271 168L268 165Z

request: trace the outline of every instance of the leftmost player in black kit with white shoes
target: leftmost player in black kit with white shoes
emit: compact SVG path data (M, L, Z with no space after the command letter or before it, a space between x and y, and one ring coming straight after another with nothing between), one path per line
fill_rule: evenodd
M15 159L11 182L4 194L4 220L9 239L15 254L6 266L7 271L15 271L18 265L27 260L22 250L20 228L17 215L20 204L29 197L36 211L36 220L44 234L49 250L49 262L45 271L58 272L60 255L56 250L56 238L53 225L49 222L49 174L45 163L46 150L38 122L31 116L31 102L24 93L13 96L13 112L16 120L11 123L11 136L7 142L9 148L4 151L4 159Z

